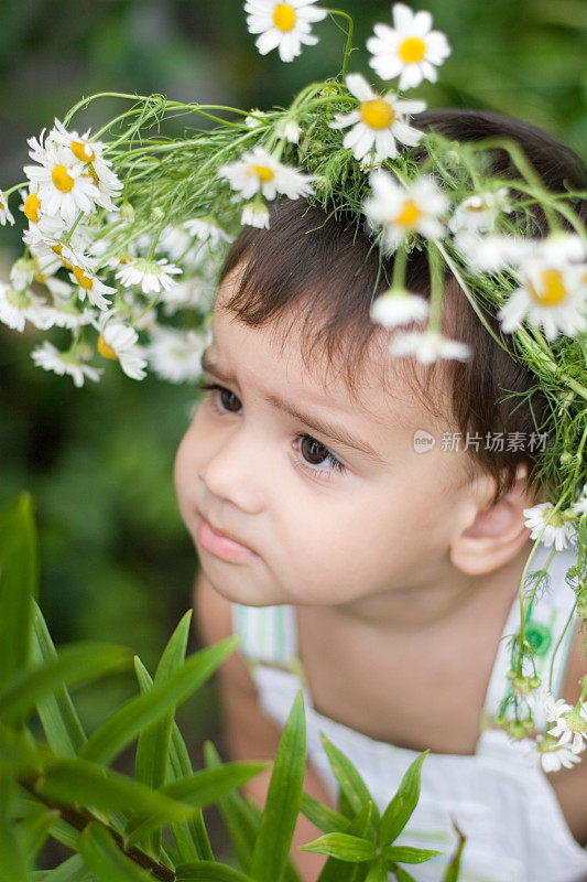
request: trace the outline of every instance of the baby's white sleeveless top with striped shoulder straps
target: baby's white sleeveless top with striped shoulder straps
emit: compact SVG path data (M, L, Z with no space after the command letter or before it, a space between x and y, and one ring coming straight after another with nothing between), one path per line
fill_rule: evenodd
M530 564L543 568L551 549L539 545ZM557 551L548 567L550 588L532 604L526 634L536 647L539 676L548 682L555 647L569 616L575 593L565 574L576 563L576 551ZM324 781L335 805L336 781L319 739L323 731L354 763L381 811L392 798L417 751L396 747L318 713L313 707L297 658L295 606L232 604L233 632L241 634L242 653L259 690L263 710L280 725L285 721L298 689L306 712L307 759ZM576 620L573 622L576 625ZM510 637L520 627L520 604L514 603L503 628ZM574 627L569 627L554 660L553 693L559 696ZM272 667L287 666L287 670ZM485 711L500 710L510 668L508 639L501 639L493 665ZM544 721L536 719L537 727ZM502 729L486 728L472 755L431 753L422 766L418 804L406 829L394 845L431 848L443 856L405 867L417 882L441 882L458 839L454 818L467 837L459 882L584 882L587 850L574 839L556 794L542 771L530 739L514 741ZM587 762L584 760L583 762ZM586 796L587 798L587 796ZM394 879L390 873L390 880Z

